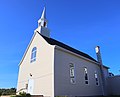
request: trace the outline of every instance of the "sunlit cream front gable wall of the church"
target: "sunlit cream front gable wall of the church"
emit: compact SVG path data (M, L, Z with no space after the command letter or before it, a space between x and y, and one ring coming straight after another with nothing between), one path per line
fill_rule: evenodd
M30 62L31 51L37 47L36 61ZM23 61L19 66L17 91L26 87L33 80L32 95L54 95L54 46L50 46L37 32L31 42ZM27 91L24 89L24 91Z

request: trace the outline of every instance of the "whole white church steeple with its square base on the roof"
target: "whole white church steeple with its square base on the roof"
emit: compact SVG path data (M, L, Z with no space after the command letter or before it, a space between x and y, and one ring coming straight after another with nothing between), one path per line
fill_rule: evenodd
M35 32L39 32L41 35L50 37L50 31L47 28L47 19L46 19L46 8L44 7L41 18L38 20L38 28Z

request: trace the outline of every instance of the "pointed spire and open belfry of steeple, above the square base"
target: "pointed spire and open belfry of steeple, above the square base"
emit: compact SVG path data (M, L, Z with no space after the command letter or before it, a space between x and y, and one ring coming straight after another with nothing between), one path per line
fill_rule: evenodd
M41 18L38 20L38 27L47 27L46 8L44 7Z

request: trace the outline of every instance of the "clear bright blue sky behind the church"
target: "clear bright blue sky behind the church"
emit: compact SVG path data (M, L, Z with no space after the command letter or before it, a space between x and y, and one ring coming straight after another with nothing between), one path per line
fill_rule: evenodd
M0 0L0 88L17 85L18 64L44 4L51 37L96 59L120 74L120 0Z

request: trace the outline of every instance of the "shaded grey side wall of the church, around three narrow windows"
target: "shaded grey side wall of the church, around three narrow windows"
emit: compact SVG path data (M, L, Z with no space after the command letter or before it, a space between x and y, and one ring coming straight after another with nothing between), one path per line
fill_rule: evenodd
M69 64L75 65L75 84L70 82ZM84 67L88 70L89 84L85 84ZM101 74L98 64L85 60L62 49L55 49L55 96L95 96L102 95ZM95 71L99 85L96 85Z

